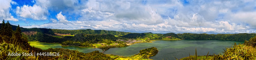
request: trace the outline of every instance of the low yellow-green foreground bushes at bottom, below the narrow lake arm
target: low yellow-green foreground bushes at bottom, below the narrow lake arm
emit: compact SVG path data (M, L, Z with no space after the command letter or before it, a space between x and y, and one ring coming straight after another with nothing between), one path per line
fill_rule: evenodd
M110 56L103 54L99 51L93 51L90 53L82 53L77 50L69 50L64 48L49 48L45 52L59 52L60 56L48 56L41 59L95 59L95 60L106 60L112 59Z

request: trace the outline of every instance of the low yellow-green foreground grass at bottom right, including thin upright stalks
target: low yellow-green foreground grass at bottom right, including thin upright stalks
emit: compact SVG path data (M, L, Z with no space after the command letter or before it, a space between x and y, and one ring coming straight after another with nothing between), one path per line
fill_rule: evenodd
M184 57L181 58L181 60L197 60L197 59L239 59L239 60L244 60L244 59L256 59L256 49L252 46L247 46L244 44L239 44L236 45L236 43L233 45L232 48L226 48L224 50L223 54L215 54L208 56L209 52L205 56L197 56L197 51L196 55L190 55L189 57Z

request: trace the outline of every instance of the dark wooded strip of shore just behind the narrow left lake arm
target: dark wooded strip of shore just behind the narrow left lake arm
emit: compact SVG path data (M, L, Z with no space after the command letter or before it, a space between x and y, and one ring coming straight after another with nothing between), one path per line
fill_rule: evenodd
M29 41L39 41L39 42L47 42L47 43L61 43L64 41L97 43L103 40L115 41L119 39L113 35L79 34L79 35L75 35L74 37L73 36L63 37L63 36L50 36L40 32L37 32L37 34L35 35L27 35L27 37Z

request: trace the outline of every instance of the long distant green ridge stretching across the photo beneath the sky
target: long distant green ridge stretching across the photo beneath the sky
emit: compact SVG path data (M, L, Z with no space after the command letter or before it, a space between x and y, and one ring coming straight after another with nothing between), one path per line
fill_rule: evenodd
M2 23L0 23L0 26ZM11 25L12 29L16 29L16 25ZM80 34L92 34L92 35L113 35L115 37L122 37L126 39L139 39L139 40L162 40L166 38L167 40L172 40L173 38L185 39L185 40L227 40L227 41L244 41L249 40L250 38L256 36L256 34L153 34L153 33L129 33L129 32L118 32L118 31L105 31L105 30L92 30L92 29L77 29L77 30L66 30L66 29L50 29L50 28L23 28L20 27L22 32L34 31L36 34L29 35L28 40L36 40L41 42L57 42L57 41L66 41L62 38L56 38L55 34L71 34L71 35L80 35ZM54 34L55 33L55 34ZM26 33L25 33L26 34ZM102 36L103 37L103 36ZM35 39L34 39L35 38ZM52 41L49 41L52 40ZM57 43L60 43L57 42Z

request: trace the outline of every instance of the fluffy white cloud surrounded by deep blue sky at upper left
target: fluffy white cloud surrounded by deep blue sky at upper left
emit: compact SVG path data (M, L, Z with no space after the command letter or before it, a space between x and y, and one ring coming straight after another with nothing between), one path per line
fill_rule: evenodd
M37 5L24 5L23 7L16 8L16 14L24 18L31 18L34 20L46 20L49 12L45 8L41 8Z

